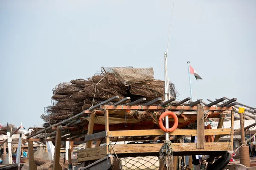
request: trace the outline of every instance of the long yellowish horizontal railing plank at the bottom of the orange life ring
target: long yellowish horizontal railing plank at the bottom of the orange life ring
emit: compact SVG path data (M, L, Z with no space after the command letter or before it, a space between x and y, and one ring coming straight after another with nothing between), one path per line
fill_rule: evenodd
M231 128L224 129L206 129L204 135L224 135L230 134ZM234 132L232 132L234 133ZM165 132L161 129L149 129L149 130L115 130L107 132L108 137L117 136L160 136L165 135ZM197 136L197 130L192 129L176 129L169 135L189 135Z

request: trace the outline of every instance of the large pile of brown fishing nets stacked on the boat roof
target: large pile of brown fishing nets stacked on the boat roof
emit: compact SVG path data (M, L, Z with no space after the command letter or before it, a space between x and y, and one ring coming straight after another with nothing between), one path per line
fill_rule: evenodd
M176 97L175 85L169 83L170 95ZM101 68L101 73L88 79L63 82L52 90L54 100L45 108L41 118L47 127L89 109L91 106L119 96L112 102L131 97L131 102L142 97L152 100L164 96L164 81L154 79L153 68Z

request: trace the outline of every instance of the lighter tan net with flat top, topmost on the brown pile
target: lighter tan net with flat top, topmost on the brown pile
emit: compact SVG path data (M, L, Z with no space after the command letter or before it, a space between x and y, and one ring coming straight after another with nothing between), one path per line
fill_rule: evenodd
M154 80L153 68L102 67L102 73L113 73L125 86Z

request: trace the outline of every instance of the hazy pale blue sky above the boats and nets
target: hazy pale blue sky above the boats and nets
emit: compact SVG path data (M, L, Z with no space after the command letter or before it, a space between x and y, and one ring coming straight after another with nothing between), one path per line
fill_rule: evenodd
M173 1L0 0L0 122L40 126L52 89L102 66L154 69L164 79ZM256 1L176 0L168 77L196 99L256 107ZM194 96L193 96L194 97Z

